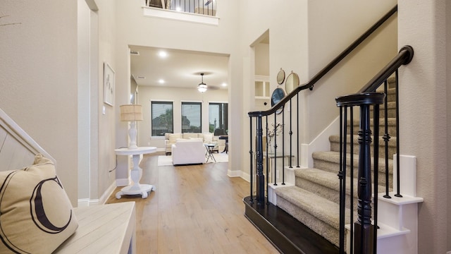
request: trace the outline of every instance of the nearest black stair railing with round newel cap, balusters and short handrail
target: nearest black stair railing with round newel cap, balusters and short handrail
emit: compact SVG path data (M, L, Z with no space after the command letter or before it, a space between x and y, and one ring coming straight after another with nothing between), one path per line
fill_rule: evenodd
M345 253L345 193L347 176L347 108L350 108L350 122L352 123L352 107L360 107L359 119L359 167L358 167L358 205L357 205L357 222L354 226L350 226L350 249L351 253L377 253L377 229L378 229L378 140L379 140L379 105L384 104L385 107L385 134L383 139L385 141L385 195L383 198L391 198L388 195L388 141L390 134L388 133L388 104L385 99L387 92L387 80L395 73L395 97L396 97L396 133L399 135L399 95L398 95L398 69L402 65L407 65L414 57L414 49L406 45L400 49L400 52L379 71L366 85L359 90L359 92L352 95L342 95L335 98L337 107L340 107L340 172L338 178L340 179L340 253ZM383 92L376 92L378 87L384 85ZM373 222L371 222L371 129L370 129L370 105L373 107L373 172L374 172L374 186L373 186ZM350 133L353 133L351 131ZM398 136L399 137L399 136ZM350 147L354 144L350 141ZM350 166L351 171L353 166ZM400 194L400 139L396 139L396 181L397 190L395 197L402 198ZM351 173L353 174L353 173ZM351 186L353 186L351 179ZM352 193L352 191L351 191ZM352 205L352 196L350 198ZM352 219L352 212L350 215ZM354 229L355 227L355 229ZM354 229L354 230L353 230ZM354 241L354 238L356 239ZM354 242L354 244L353 244Z

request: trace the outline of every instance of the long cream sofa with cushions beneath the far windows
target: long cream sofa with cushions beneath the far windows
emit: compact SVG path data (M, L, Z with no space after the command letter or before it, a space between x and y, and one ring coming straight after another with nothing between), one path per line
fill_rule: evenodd
M214 144L214 152L223 151L226 147L226 140L220 140L213 133L164 133L164 147L166 155L171 153L172 145L177 140L202 140L202 143Z

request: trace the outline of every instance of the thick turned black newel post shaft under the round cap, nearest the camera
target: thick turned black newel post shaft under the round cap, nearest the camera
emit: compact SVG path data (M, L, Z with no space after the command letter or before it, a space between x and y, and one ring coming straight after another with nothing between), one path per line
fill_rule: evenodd
M371 224L371 130L369 104L360 105L359 173L357 222L354 223L355 253L373 254L374 226ZM377 142L377 140L376 140Z

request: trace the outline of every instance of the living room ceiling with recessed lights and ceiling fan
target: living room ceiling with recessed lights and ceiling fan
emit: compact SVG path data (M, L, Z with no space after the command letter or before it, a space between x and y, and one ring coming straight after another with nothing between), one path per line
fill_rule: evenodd
M228 55L178 49L130 46L130 73L137 85L197 89L204 73L209 89L225 89ZM159 56L166 52L166 56ZM164 80L160 83L159 80Z

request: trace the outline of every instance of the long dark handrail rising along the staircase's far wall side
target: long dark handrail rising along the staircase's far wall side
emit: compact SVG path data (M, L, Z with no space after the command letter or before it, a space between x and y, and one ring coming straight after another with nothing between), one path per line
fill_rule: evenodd
M303 85L297 86L294 90L292 90L287 96L283 97L283 99L280 100L277 104L275 104L271 109L265 110L265 111L250 111L248 115L250 117L256 117L256 116L269 116L271 114L276 113L278 109L283 107L285 103L287 103L292 97L295 97L299 92L302 90L306 90L309 88L310 90L313 90L314 85L316 82L318 82L321 78L323 78L324 75L326 75L332 68L334 68L342 59L344 59L347 55L349 55L355 48L357 48L366 38L368 38L374 31L376 31L385 21L388 20L393 14L397 12L397 5L395 7L391 8L388 13L386 13L381 19L379 19L374 25L371 26L366 32L364 32L357 40L352 42L349 47L347 47L343 52L341 52L335 59L330 61L324 67L319 73L316 73L313 78L307 83L304 83Z

